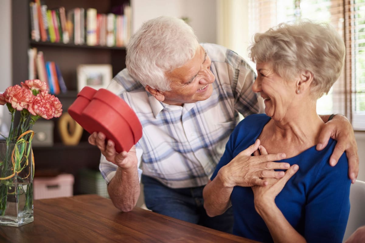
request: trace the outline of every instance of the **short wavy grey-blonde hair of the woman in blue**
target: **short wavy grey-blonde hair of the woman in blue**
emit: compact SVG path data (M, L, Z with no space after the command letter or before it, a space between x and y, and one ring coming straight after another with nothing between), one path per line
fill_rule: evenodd
M345 62L345 43L327 23L301 21L281 23L254 35L249 47L253 62L270 62L281 77L291 80L308 70L314 80L311 93L318 99L327 94L341 74Z

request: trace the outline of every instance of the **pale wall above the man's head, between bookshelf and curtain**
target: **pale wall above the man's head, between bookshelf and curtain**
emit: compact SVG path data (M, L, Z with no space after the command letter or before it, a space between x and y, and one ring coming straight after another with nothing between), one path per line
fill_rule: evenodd
M133 32L158 16L188 17L200 42L216 43L216 0L131 0Z

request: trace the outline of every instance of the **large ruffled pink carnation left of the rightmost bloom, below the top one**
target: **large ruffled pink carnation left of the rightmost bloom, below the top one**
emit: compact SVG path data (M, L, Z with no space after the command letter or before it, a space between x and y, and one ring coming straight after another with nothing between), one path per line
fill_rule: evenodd
M30 90L24 89L19 85L8 87L4 94L5 99L7 98L11 106L17 110L27 109L28 105L32 103L34 99L34 95Z

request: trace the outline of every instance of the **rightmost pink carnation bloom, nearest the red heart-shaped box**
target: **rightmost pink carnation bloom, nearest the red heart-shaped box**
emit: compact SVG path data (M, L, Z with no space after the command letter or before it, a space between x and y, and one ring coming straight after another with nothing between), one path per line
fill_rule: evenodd
M45 119L51 119L61 116L62 104L54 95L48 94L46 91L41 91L28 107L28 111L32 115L39 115Z

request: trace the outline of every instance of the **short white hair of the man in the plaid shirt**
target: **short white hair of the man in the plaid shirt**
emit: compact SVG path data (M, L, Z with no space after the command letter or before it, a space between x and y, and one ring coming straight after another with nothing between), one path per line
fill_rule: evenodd
M148 20L127 45L128 72L143 86L168 91L166 72L191 60L198 46L193 29L183 20L166 16Z

